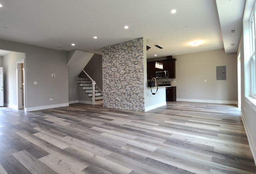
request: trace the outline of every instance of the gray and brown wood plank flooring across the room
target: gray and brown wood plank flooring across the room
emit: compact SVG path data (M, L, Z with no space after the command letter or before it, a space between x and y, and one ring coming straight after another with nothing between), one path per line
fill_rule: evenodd
M168 102L146 113L72 104L0 107L0 174L256 173L233 105Z

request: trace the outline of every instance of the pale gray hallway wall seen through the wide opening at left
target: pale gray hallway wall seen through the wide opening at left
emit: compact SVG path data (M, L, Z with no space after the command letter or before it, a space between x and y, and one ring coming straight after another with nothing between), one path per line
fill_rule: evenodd
M25 59L25 53L10 52L3 58L4 64L4 103L18 109L17 103L17 61Z

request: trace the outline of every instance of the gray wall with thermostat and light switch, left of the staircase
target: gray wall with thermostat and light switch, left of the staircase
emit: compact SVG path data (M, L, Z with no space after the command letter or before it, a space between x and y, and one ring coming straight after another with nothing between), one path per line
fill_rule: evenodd
M6 40L0 40L0 49L26 53L27 108L68 105L66 52ZM16 78L10 80L16 81ZM38 85L33 85L34 81Z

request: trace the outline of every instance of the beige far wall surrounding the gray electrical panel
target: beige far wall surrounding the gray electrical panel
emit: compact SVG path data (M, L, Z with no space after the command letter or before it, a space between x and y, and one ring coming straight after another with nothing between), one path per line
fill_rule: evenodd
M177 100L237 102L236 53L226 54L224 49L217 49L173 57L177 59ZM226 65L226 80L216 80L216 66L222 65Z

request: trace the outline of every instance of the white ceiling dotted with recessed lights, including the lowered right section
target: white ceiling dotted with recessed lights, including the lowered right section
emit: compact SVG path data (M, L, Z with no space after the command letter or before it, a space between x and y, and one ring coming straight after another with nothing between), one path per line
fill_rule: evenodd
M102 47L144 37L151 47L148 58L154 54L180 55L221 48L231 53L237 51L244 2L0 0L0 39L101 54ZM170 13L172 9L177 10L176 14ZM238 32L230 34L231 29ZM195 41L202 43L197 47L190 45ZM235 45L230 46L231 43ZM164 49L154 47L155 44Z

